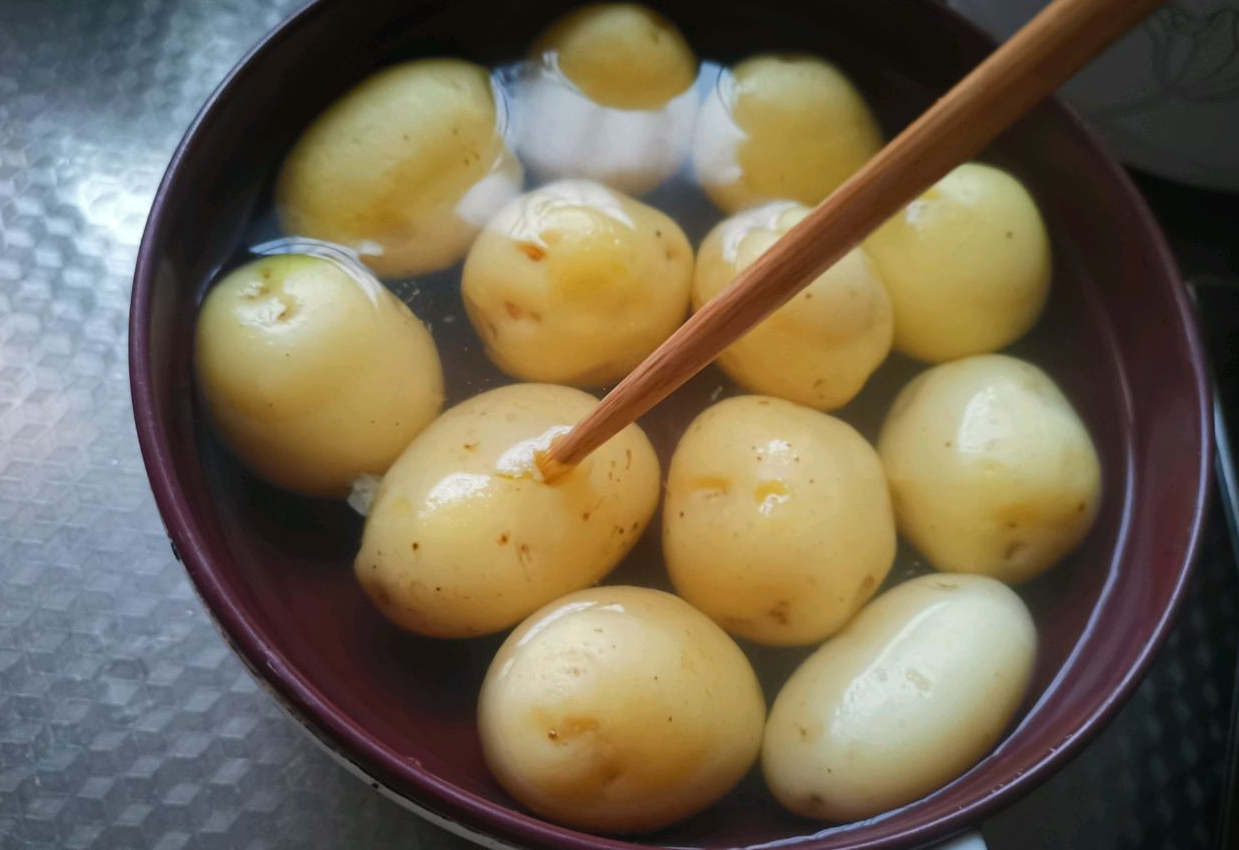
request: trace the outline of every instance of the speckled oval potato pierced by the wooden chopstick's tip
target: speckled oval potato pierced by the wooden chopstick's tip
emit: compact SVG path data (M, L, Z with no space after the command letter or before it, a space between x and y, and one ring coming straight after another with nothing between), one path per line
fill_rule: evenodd
M503 387L409 445L379 484L356 561L392 622L431 637L498 632L620 563L658 503L641 429L551 483L533 461L596 404L567 387Z

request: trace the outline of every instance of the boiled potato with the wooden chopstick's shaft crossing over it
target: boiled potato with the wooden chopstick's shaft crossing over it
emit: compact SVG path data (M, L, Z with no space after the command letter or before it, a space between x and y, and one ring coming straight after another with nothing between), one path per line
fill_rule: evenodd
M793 201L776 201L715 227L698 250L693 309L725 290L808 212ZM891 327L886 290L857 248L727 348L717 363L755 393L834 410L886 359Z

